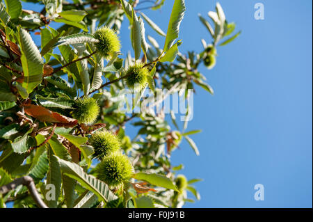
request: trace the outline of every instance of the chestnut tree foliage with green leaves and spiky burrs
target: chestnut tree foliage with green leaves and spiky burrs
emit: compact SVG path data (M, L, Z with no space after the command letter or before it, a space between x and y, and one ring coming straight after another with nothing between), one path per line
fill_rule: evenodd
M159 89L185 92L187 102L195 86L213 94L198 68L214 68L216 48L240 33L230 37L235 24L220 4L208 13L211 22L199 15L211 43L202 40L203 51L181 54L184 0L173 1L167 31L148 15L172 1L148 7L143 3L151 1L23 1L42 10L0 1L0 207L182 207L194 201L190 195L199 200L193 184L200 179L177 175L183 165L172 166L170 157L183 139L199 155L190 136L200 130L187 131L188 120L179 129L172 111L172 123L154 109L129 114L119 109L118 97L134 90L127 104L133 111ZM125 19L133 48L127 55L119 39ZM187 103L186 117L190 111ZM130 122L138 129L134 138L125 134Z

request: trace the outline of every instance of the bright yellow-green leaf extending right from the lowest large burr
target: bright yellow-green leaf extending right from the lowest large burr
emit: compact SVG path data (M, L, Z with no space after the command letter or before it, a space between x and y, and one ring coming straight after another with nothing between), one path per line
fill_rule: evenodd
M134 175L134 178L136 180L143 180L145 182L148 182L158 187L163 187L166 189L172 189L172 190L178 191L177 187L172 183L172 180L170 180L168 177L165 177L163 175L159 175L156 173L152 173L152 174L136 173Z

